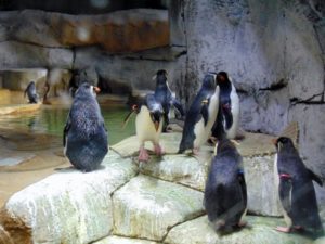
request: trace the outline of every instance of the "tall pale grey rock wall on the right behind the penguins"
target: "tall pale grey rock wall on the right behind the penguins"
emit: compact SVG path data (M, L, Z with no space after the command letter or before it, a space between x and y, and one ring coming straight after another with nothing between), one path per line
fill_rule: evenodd
M181 0L173 8L171 43L187 51L182 101L188 105L206 72L229 72L242 127L277 134L299 121L300 154L324 177L324 3Z

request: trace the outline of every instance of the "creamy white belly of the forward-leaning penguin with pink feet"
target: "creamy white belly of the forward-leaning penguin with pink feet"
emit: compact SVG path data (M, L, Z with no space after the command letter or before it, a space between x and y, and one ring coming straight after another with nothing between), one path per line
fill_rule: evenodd
M162 124L164 119L161 118L158 131L156 131L150 111L146 106L141 106L141 110L135 118L135 130L140 144L143 144L145 141L158 143L159 136L162 130Z

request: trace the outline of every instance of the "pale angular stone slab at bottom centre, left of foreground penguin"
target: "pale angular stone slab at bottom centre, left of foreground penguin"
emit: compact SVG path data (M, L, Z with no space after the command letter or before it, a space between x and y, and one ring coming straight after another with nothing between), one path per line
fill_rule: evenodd
M152 241L204 213L202 192L142 175L114 193L113 206L114 234Z

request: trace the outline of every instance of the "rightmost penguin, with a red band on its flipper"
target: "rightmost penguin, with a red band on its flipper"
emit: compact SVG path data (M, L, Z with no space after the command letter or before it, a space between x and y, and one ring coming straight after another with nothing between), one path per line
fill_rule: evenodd
M277 227L281 232L304 230L316 236L324 230L318 215L313 181L323 185L322 180L308 169L299 156L291 139L280 137L273 140L276 147L275 174L278 196L287 227Z

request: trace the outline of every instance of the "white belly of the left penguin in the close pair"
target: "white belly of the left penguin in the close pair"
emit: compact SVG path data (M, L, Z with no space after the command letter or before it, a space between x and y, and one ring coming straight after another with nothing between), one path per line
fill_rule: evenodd
M207 125L205 126L204 118L202 117L200 120L194 126L194 134L196 137L193 142L194 147L202 146L210 137L212 126L217 119L218 107L219 107L219 87L216 88L216 92L210 98Z

